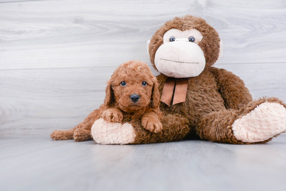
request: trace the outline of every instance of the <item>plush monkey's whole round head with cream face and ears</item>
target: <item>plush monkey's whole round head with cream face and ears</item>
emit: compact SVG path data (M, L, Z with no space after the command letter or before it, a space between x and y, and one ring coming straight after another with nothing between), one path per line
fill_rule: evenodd
M217 31L200 17L175 17L161 26L147 42L154 68L166 76L198 76L222 56Z

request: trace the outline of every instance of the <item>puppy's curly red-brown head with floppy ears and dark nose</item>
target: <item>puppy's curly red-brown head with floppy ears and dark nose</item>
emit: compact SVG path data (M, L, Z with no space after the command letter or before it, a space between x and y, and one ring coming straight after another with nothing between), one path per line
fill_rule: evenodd
M144 62L124 62L113 72L105 88L104 104L125 112L156 108L160 104L157 79Z

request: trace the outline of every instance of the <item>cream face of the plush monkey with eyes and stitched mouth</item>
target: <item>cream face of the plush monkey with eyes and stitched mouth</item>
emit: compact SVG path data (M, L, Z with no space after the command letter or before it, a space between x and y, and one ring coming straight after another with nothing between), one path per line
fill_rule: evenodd
M155 54L155 66L166 76L188 78L198 76L205 68L205 56L198 43L203 35L196 29L170 29Z

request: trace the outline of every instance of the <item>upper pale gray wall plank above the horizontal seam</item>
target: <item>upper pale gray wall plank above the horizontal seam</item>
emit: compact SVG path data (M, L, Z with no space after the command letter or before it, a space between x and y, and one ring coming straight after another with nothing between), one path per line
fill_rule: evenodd
M286 1L23 1L1 3L0 69L149 63L146 41L174 16L203 17L220 34L218 62L285 62Z

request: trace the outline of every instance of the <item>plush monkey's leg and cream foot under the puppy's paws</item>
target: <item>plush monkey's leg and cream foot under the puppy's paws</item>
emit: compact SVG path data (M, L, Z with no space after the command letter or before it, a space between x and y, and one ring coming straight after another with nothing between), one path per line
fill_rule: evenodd
M107 122L102 118L92 126L93 139L100 144L141 144L181 140L189 132L188 119L178 114L168 114L162 120L163 130L152 133L144 129L141 120L132 119Z

